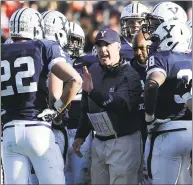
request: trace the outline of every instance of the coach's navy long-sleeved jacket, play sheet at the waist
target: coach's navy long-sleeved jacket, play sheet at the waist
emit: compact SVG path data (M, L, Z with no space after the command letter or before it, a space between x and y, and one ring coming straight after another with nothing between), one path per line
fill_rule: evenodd
M92 124L87 113L106 111L118 134L132 134L140 130L139 101L141 83L138 73L121 59L117 67L107 68L93 64L89 71L94 89L84 92L81 100L81 118L75 138L86 138Z

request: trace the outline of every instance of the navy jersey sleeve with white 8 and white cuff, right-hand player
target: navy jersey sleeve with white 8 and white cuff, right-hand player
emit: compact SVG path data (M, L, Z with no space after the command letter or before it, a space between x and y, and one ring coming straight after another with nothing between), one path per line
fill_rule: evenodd
M167 76L166 61L160 56L152 55L147 62L147 77L153 72L161 72Z

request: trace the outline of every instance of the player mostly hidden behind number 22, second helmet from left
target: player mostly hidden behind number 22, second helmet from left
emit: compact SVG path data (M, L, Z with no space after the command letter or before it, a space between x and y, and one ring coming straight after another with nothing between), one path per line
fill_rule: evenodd
M56 41L62 49L68 64L71 64L71 59L67 53L63 51L68 42L69 22L67 18L59 11L49 10L42 13L44 21L44 37L47 40ZM49 73L48 89L49 91L49 106L53 108L54 101L58 99L65 86L64 82L56 77L53 73ZM68 117L67 111L60 115L57 121L62 124L54 124L53 131L55 134L56 142L60 147L61 153L66 164L66 154L68 149L68 134L66 131L66 118Z

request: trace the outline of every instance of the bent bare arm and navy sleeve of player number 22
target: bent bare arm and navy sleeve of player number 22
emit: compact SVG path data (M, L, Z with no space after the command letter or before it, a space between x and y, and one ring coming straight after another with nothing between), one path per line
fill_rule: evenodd
M77 92L81 88L82 78L78 74L78 72L68 63L68 55L62 50L62 48L56 43L52 41L42 41L44 43L45 53L45 69L51 71L56 77L62 80L65 83L65 87L63 88L62 95L57 101L54 103L55 109L61 113L67 105L73 100L76 96ZM47 62L49 61L49 62ZM54 79L57 80L56 78ZM57 80L57 84L61 83ZM53 83L52 83L53 85ZM55 88L54 86L52 88ZM52 89L53 90L53 89ZM53 90L53 95L56 95L56 89ZM59 96L61 93L57 93ZM55 97L56 98L56 97Z

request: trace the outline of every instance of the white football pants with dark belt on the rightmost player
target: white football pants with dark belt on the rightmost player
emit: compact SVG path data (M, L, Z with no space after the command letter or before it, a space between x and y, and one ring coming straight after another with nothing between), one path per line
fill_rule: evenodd
M156 137L152 159L152 184L191 184L188 172L192 149L192 121L171 121L160 126L158 131L186 128L187 130L167 132ZM147 138L145 161L150 151Z

